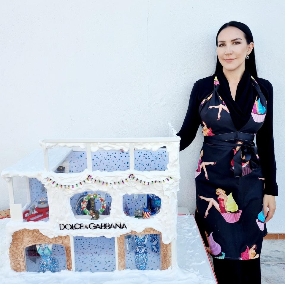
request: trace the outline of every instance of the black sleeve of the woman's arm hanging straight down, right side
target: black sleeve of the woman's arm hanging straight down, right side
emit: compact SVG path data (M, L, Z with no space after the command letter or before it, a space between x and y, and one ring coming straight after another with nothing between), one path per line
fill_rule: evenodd
M262 127L256 134L256 145L258 148L258 155L260 157L260 163L265 178L264 194L278 196L273 139L273 87L269 81L267 82L267 113Z

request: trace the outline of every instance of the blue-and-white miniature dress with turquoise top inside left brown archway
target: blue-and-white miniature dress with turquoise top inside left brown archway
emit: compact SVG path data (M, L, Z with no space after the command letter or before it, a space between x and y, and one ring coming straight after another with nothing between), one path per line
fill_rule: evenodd
M58 259L51 256L52 244L37 244L37 251L41 256L39 262L39 272L56 272L58 269Z

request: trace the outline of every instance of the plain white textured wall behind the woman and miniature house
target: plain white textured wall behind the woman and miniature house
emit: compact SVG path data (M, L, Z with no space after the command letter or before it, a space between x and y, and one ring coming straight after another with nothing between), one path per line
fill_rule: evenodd
M284 1L6 1L0 10L0 171L44 138L162 137L177 131L193 83L214 71L228 21L253 35L259 77L274 88L279 197L269 232L285 232ZM194 213L200 131L181 152L178 205ZM8 208L0 181L0 208ZM17 200L24 197L18 193Z

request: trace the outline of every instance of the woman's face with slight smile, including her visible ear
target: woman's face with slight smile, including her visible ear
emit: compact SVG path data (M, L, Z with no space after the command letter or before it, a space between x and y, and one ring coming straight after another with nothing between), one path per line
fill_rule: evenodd
M232 71L245 66L246 55L251 53L254 43L247 44L240 29L227 27L219 33L217 40L217 56L224 69Z

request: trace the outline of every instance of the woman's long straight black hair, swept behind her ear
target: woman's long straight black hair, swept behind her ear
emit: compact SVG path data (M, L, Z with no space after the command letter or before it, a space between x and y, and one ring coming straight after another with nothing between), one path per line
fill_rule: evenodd
M235 22L235 21L230 21L228 23L225 23L224 25L222 25L217 33L216 36L216 46L218 47L218 35L219 33L227 28L227 27L236 27L238 29L240 29L243 33L244 33L244 37L246 38L246 42L247 44L250 44L253 41L253 36L251 33L251 30L249 29L249 27L247 25L245 25L244 23L240 23L240 22ZM254 48L251 51L250 55L249 55L249 59L245 59L246 62L246 70L248 70L248 72L251 74L251 76L254 77L254 79L257 78L257 70L256 70L256 63L255 63L255 54L254 54ZM216 70L215 73L217 71L222 71L223 70L223 66L221 65L221 63L219 62L218 56L217 56L217 63L216 63Z

